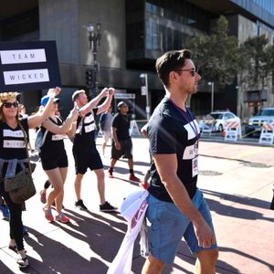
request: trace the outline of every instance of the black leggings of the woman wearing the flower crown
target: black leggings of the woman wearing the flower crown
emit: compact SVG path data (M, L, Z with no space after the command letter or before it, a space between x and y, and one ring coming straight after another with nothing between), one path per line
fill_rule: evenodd
M5 199L5 204L9 209L9 236L15 239L17 250L23 250L23 223L22 223L22 205L15 204L4 189L4 183L0 183L0 195Z

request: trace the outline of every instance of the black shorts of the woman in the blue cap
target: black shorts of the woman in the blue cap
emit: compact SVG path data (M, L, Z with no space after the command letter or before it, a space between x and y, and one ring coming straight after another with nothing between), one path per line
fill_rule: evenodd
M39 156L44 170L68 167L68 156L65 150L40 153Z

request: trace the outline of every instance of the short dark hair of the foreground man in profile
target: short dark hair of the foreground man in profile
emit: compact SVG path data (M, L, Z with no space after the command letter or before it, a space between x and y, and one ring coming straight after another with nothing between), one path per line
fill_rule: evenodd
M169 85L169 73L175 69L184 67L185 59L190 59L191 53L188 49L171 50L165 52L156 60L156 71L163 85Z

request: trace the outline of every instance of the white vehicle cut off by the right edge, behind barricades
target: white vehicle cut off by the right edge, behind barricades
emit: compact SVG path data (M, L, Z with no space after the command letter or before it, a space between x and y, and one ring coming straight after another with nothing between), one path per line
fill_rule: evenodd
M255 116L249 118L248 125L246 125L246 134L249 136L258 134L261 131L262 124L271 121L274 121L274 108L262 108Z

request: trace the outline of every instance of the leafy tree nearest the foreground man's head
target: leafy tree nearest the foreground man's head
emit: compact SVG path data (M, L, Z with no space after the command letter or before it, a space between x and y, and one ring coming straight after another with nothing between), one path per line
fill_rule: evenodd
M197 71L220 86L231 84L238 71L237 37L228 36L228 23L220 16L210 36L197 34L184 47L192 51Z

